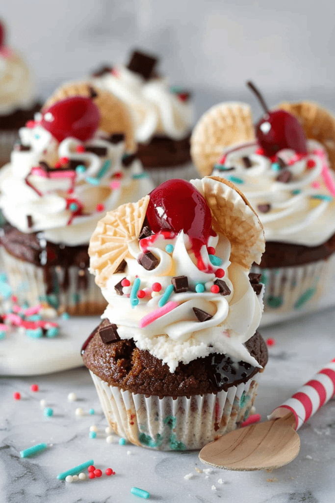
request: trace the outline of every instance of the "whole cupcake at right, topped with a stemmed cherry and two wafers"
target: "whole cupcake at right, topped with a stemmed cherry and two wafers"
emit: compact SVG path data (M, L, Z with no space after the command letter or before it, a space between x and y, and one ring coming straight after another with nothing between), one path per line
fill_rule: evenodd
M191 140L198 170L237 184L264 226L263 324L322 305L335 257L335 118L310 102L265 108L255 131L248 105L214 106Z

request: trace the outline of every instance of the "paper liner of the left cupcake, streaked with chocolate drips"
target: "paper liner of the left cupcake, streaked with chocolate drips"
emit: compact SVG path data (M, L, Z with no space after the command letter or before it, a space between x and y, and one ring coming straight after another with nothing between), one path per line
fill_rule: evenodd
M8 276L12 292L23 304L36 305L47 302L57 309L75 315L102 314L105 309L100 288L95 284L93 275L85 271L86 284L81 281L82 269L71 266L68 268L68 287L62 288L64 269L59 266L50 266L49 274L53 278L53 291L47 294L47 285L44 281L42 267L37 267L29 262L24 262L10 255L4 246L0 246L0 256L3 267Z

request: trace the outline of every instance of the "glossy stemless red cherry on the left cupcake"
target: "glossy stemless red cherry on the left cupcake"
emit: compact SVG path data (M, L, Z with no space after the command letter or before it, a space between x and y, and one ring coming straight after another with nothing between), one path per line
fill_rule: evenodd
M41 125L59 142L68 137L86 141L92 138L99 122L99 110L92 99L73 96L49 107L43 114Z

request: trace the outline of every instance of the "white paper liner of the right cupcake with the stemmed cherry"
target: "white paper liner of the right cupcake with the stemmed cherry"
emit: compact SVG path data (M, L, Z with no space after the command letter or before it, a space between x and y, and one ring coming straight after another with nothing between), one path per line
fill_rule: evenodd
M264 313L260 326L297 317L323 307L329 292L329 279L335 266L335 254L302 266L261 268L265 284Z

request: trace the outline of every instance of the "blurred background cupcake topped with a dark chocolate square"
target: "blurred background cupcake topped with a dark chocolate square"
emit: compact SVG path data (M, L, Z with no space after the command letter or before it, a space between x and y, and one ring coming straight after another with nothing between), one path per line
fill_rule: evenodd
M157 73L155 56L134 51L127 66L102 66L93 73L95 86L128 107L135 122L137 155L156 185L196 175L190 162L193 104L188 91L170 87Z

